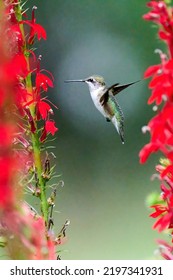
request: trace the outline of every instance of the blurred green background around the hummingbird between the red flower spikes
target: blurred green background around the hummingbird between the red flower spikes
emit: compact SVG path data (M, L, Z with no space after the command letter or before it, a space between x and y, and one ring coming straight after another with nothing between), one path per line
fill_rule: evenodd
M66 219L68 242L62 259L152 259L157 248L154 220L146 197L159 191L151 181L158 156L139 164L138 153L149 141L141 127L153 116L147 105L148 81L128 88L117 99L125 115L125 145L113 125L95 109L84 84L64 84L92 74L108 85L142 79L159 61L156 28L145 22L142 0L28 1L38 7L37 22L47 30L37 53L42 68L55 77L49 91L58 106L57 172L59 188L55 231Z

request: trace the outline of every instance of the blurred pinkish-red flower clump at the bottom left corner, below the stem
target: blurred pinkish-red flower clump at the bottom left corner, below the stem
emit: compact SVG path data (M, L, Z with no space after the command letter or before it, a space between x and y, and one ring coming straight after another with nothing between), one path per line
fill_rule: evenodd
M20 239L19 252L15 252L14 257L21 254L28 259L55 260L54 236L47 235L43 218L32 213L27 205L21 206L21 212L8 209L3 220L9 233L13 233L13 242L17 241L18 243Z

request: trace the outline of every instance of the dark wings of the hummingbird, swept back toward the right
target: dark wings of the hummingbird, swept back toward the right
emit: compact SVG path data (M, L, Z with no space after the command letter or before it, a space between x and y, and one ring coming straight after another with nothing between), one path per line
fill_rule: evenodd
M125 88L137 83L139 81L133 82L133 83L129 83L129 84L125 84L125 85L119 85L118 83L110 86L106 92L101 96L100 98L100 103L102 105L106 104L108 102L109 96L111 95L116 95L118 94L120 91L124 90Z

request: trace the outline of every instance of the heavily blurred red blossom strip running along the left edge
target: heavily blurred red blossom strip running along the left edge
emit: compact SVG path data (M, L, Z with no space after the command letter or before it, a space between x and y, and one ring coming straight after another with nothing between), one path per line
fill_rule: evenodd
M3 14L3 10L0 10ZM3 37L7 24L2 19L0 29L0 207L1 211L14 203L14 192L12 182L16 170L17 161L12 155L13 135L16 132L14 120L9 118L7 103L12 105L15 98L11 93L16 82L14 74L15 65L5 48L8 44L8 37ZM3 40L2 40L3 38ZM12 75L11 75L12 74ZM12 109L12 108L11 108Z

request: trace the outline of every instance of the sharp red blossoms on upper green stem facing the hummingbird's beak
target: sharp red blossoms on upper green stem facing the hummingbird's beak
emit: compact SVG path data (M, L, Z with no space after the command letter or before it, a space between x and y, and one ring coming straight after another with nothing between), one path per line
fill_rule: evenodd
M43 95L44 92L47 92L48 87L53 87L53 76L47 70L40 69L40 57L37 59L31 48L36 39L46 40L46 31L40 24L36 23L35 6L32 9L31 20L22 20L22 18L17 18L17 1L9 1L7 8L8 10L6 12L9 16L8 35L12 36L15 41L11 46L12 48L15 46L15 49L11 49L11 62L13 65L11 65L8 74L10 76L14 75L17 77L16 101L23 114L27 115L27 117L30 118L30 122L33 123L33 116L28 115L27 110L28 106L33 104L37 108L37 114L35 116L36 120L44 120L44 134L46 132L46 135L43 140L45 140L48 133L54 135L58 130L55 126L55 122L50 119L50 115L53 114L53 110L51 109L49 101ZM24 32L28 32L28 34L24 36ZM32 87L26 82L27 77L31 74L34 77ZM33 127L33 129L35 128Z

